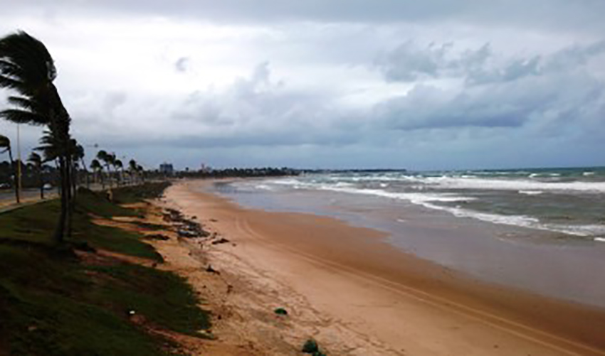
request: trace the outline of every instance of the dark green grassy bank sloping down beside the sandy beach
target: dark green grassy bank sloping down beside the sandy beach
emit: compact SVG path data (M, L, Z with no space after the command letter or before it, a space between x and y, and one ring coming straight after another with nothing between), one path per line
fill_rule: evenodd
M163 183L114 191L136 203L162 193ZM94 217L142 212L82 190L68 248L51 236L59 203L51 200L0 215L0 355L172 355L166 338L209 327L181 277L99 252L161 263L142 235L95 225Z

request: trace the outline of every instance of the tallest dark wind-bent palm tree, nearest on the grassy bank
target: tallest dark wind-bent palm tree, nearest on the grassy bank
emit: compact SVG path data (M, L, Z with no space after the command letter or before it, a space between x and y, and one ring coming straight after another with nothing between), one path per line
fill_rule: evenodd
M70 233L70 169L68 166L71 119L53 84L57 76L46 46L23 31L0 39L0 87L14 90L9 97L14 109L5 109L0 117L11 122L45 125L51 144L58 153L61 176L61 214L55 231L56 242Z

